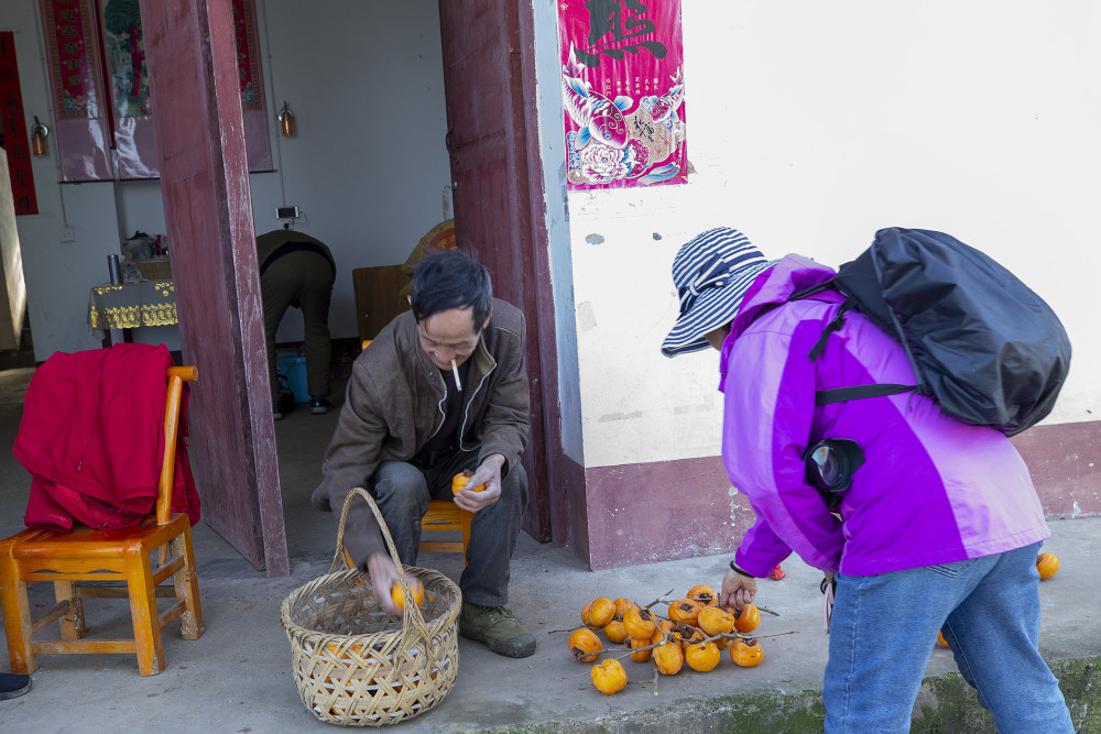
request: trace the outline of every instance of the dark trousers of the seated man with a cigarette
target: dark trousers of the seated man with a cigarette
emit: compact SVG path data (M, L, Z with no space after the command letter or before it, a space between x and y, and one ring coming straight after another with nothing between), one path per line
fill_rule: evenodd
M428 500L451 500L451 478L477 464L477 452L454 451L429 456L417 464L384 461L374 472L371 484L379 512L402 563L416 563L421 518L428 511ZM470 524L467 567L459 578L464 601L482 606L508 603L512 554L526 506L527 474L517 463L501 480L500 499L478 511Z

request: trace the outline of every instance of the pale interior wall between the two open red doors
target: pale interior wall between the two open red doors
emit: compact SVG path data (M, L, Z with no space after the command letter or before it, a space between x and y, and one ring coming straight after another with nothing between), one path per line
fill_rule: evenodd
M252 176L257 232L280 226L276 206L302 210L296 229L328 244L337 261L333 336L355 337L352 269L405 262L451 216L443 196L451 176L439 8L436 0L264 0L259 11L272 119L285 99L298 130L272 139L282 175ZM279 340L302 339L301 321L284 318Z

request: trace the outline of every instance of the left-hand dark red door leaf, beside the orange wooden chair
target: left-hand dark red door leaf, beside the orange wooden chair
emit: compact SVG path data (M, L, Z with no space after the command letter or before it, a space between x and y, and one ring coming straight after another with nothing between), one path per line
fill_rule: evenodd
M230 0L139 0L203 517L290 576Z

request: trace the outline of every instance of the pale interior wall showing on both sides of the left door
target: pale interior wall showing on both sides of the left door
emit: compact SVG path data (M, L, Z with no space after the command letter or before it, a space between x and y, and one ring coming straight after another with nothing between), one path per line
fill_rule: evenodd
M53 127L37 4L3 0L0 28L19 29L28 127L34 114ZM257 10L279 169L250 177L257 231L280 226L276 206L302 209L296 228L326 242L337 261L333 336L355 337L352 269L404 262L425 232L450 217L443 201L450 173L438 6L258 0ZM298 134L276 140L274 117L284 99ZM107 255L134 230L166 229L157 182L61 186L56 161L56 147L34 160L40 213L18 219L37 360L99 346L86 316L90 286L107 281ZM74 242L61 241L66 223ZM301 321L292 309L279 340L301 340ZM179 346L174 327L140 329L135 340Z

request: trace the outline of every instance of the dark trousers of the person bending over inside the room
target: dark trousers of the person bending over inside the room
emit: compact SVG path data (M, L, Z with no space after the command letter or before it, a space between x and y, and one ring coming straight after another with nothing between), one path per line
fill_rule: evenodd
M333 299L333 265L315 252L291 252L273 261L260 276L268 338L268 375L272 399L279 401L275 332L291 306L302 309L305 333L306 388L310 395L329 394L333 341L329 339L329 302Z

